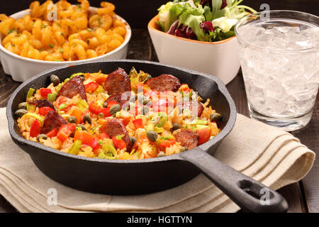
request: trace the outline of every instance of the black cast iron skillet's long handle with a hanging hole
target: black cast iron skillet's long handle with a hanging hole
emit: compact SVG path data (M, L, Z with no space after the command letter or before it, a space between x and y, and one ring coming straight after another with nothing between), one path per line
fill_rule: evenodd
M288 209L287 201L278 192L228 167L201 148L181 153L181 158L196 165L243 211L283 213Z

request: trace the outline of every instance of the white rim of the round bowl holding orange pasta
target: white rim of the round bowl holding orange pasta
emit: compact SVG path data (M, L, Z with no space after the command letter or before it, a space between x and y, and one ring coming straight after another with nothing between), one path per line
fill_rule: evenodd
M93 6L90 6L91 10L96 10L98 8L96 7L93 7ZM16 13L13 13L10 17L14 17L16 16L16 14L22 14L22 13L30 13L30 9L24 9L22 11L18 11ZM42 63L42 64L49 64L49 65L66 65L66 64L69 64L71 65L72 63L73 64L79 64L79 63L84 63L84 62L89 62L89 61L97 61L97 60L101 60L103 59L103 57L107 57L107 56L110 56L112 55L113 53L115 52L118 52L119 50L122 50L125 45L128 44L128 42L130 41L130 38L131 38L131 35L132 35L132 31L131 31L131 28L130 28L130 25L128 24L127 21L125 21L121 16L118 16L118 14L116 14L116 17L118 19L120 19L123 23L125 23L125 28L126 28L126 35L125 35L125 40L124 42L118 47L116 48L115 50L112 50L111 52L108 52L106 53L105 55L101 55L101 56L98 56L98 57L91 57L91 58L88 58L88 59L85 59L85 60L76 60L76 61L64 61L64 62L55 62L55 61L45 61L45 60L36 60L36 59L33 59L33 58L30 58L30 57L22 57L21 55L17 55L9 50L6 50L6 48L4 48L4 46L2 45L2 38L0 36L0 50L5 52L7 55L11 55L11 57L15 57L15 58L18 58L20 60L25 60L25 61L28 61L28 62L35 62L35 63Z

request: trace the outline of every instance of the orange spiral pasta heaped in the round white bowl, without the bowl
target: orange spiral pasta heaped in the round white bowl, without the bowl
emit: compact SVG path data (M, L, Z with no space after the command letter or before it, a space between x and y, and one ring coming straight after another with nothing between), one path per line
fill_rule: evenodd
M115 6L101 2L96 12L88 0L33 1L30 15L14 19L0 14L1 44L36 60L74 61L105 55L125 40L126 28L116 19Z

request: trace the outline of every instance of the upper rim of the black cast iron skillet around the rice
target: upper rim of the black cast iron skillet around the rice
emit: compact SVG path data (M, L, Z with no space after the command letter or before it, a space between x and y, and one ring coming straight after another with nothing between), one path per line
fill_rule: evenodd
M184 72L189 72L191 74L196 74L200 77L207 77L208 79L212 79L214 82L216 82L216 84L218 85L218 89L220 90L220 92L225 96L225 99L228 101L228 104L230 106L230 116L229 116L229 120L228 123L226 123L225 127L223 128L222 131L220 131L220 133L218 133L218 135L216 135L216 137L212 138L211 140L208 140L208 142L203 143L202 145L199 145L196 148L201 148L203 150L208 150L209 148L211 148L213 145L215 145L216 143L220 142L221 140L223 140L223 138L225 138L230 131L232 131L233 127L235 126L235 121L236 121L236 107L235 107L235 103L233 101L233 99L231 98L228 89L225 87L225 84L218 79L215 76L212 75L208 75L205 73L201 73L201 72L197 72L194 70L188 70L186 68L183 67L177 67L174 65L167 65L167 64L162 64L159 62L150 62L150 61L145 61L145 60L107 60L107 61L103 61L103 62L119 62L119 64L121 64L121 62L131 62L131 63L142 63L142 64L150 64L150 65L159 65L159 66L164 66L164 67L173 67L177 70L182 70ZM81 64L77 64L74 66L78 66L78 65L86 65L86 64L94 64L94 63L101 63L101 61L94 61L94 62L85 62L85 63L81 63ZM153 157L153 158L148 158L148 159L142 159L142 160L107 160L107 159L99 159L99 158L92 158L92 157L82 157L79 155L72 155L69 153L64 153L61 152L60 150L56 150L54 148L49 148L45 145L42 145L40 143L36 143L30 140L26 140L25 138L21 137L20 135L18 135L16 133L16 131L14 130L14 125L16 123L16 119L13 118L13 111L12 111L12 104L13 104L13 99L16 97L16 95L18 94L18 92L20 92L20 90L25 87L25 84L28 84L28 82L33 81L39 77L42 77L44 74L47 74L49 72L53 72L55 70L61 70L64 68L69 67L69 65L65 65L62 67L55 67L52 68L50 70L46 70L44 72L41 72L40 74L37 74L33 77L31 77L30 79L26 80L26 82L23 82L19 87L16 88L16 90L13 92L13 94L11 95L8 104L6 106L6 117L8 119L8 126L9 126L9 133L11 135L12 138L14 138L16 141L18 141L18 143L21 144L26 144L29 145L32 148L38 148L40 150L43 150L45 152L50 152L50 153L54 153L55 155L62 155L64 157L68 157L68 158L75 158L78 160L85 160L85 161L89 161L89 162L107 162L107 163L114 163L114 164L127 164L127 163L145 163L145 162L162 162L162 161L169 161L169 160L182 160L181 153L178 154L174 154L174 155L168 155L168 156L164 156L164 157ZM121 66L120 66L121 67ZM196 148L191 149L191 150L186 150L183 153L191 153L191 152L196 152Z

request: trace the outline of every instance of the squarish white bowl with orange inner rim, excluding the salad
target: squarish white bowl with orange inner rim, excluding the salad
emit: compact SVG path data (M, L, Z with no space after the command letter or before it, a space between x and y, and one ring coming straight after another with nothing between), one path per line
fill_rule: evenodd
M158 16L148 23L159 62L212 74L228 84L240 69L235 36L218 42L201 42L159 31Z

